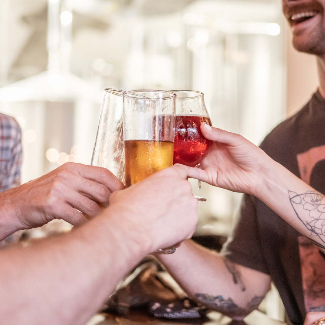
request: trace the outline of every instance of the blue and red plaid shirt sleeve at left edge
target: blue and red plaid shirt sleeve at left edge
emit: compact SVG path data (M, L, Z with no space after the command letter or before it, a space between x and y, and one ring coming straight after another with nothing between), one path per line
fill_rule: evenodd
M21 131L13 117L0 113L0 192L20 185Z

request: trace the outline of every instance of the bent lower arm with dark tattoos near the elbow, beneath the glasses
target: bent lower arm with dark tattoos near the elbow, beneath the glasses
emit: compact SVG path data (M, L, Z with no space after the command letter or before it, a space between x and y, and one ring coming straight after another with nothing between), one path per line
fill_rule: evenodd
M159 259L193 299L235 319L256 309L269 290L268 275L231 263L190 240Z

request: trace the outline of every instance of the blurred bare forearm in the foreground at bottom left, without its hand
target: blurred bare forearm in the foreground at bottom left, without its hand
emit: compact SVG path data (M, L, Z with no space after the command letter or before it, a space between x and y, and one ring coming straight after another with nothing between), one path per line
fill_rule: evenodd
M84 324L145 254L114 214L66 236L0 251L1 320Z

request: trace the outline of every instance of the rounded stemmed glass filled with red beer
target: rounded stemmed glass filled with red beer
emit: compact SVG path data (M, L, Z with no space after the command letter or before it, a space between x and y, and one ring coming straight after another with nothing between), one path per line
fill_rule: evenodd
M212 145L212 141L203 136L200 127L203 122L212 125L205 107L204 95L199 91L190 90L172 92L176 94L174 163L190 167L199 166ZM194 197L198 201L206 201L200 196Z

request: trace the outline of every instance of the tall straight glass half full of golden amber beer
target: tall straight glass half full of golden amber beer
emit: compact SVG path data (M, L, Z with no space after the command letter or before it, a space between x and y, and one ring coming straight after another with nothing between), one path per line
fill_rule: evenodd
M176 95L160 90L134 90L123 94L125 186L172 166ZM175 247L160 249L160 254Z

